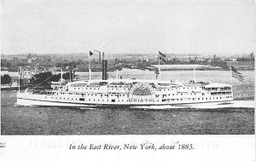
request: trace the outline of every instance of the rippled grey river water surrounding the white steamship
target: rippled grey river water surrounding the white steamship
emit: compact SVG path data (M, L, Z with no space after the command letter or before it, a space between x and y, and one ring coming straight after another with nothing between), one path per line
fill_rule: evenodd
M233 79L236 101L151 108L67 108L16 106L16 91L1 92L2 135L252 135L254 134L254 71L242 71L245 82ZM88 74L77 72L79 79ZM101 78L101 72L94 72ZM127 70L122 78L155 78L154 72ZM109 78L115 78L109 72ZM164 80L182 83L191 71L162 72ZM197 71L203 82L230 83L229 71ZM207 106L207 109L202 109ZM158 106L159 107L159 106Z

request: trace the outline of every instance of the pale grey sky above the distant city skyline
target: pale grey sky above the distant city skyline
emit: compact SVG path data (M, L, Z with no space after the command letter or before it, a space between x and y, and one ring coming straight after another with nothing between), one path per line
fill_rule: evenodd
M253 0L2 0L1 54L251 53Z

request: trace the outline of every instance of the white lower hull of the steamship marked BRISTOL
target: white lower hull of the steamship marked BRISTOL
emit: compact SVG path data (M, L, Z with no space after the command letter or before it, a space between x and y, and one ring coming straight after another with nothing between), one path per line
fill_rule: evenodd
M162 106L190 103L232 101L232 95L180 95L172 98L119 98L104 99L69 95L34 95L18 93L17 104L24 106Z

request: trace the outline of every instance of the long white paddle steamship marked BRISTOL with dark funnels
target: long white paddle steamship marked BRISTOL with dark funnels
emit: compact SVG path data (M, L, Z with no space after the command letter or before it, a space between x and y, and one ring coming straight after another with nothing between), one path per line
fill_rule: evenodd
M90 72L90 69L89 69ZM233 100L232 86L224 83L179 83L160 79L108 79L102 60L102 80L51 82L50 90L18 91L23 106L164 106Z

